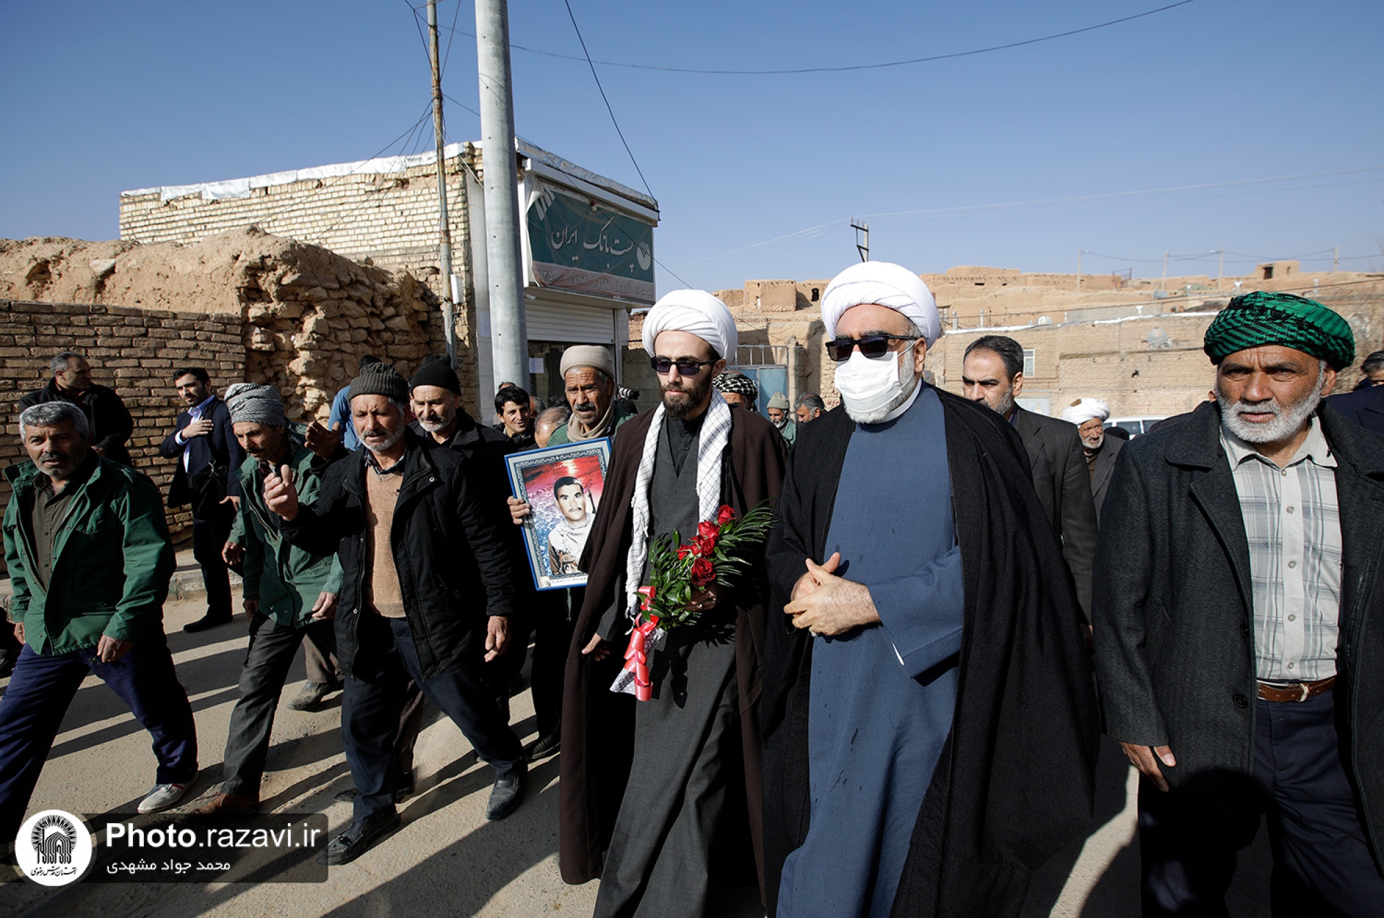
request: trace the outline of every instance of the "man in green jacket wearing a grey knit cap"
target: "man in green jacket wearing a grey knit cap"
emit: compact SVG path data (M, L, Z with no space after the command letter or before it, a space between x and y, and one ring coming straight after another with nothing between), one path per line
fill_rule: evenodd
M251 382L226 390L235 439L248 454L241 465L241 507L227 555L244 551L245 612L251 645L241 667L241 698L231 712L223 771L226 784L199 817L239 816L260 807L259 788L268 755L274 709L303 638L332 652L332 619L342 569L335 554L318 555L288 544L278 515L264 505L264 471L292 469L303 500L317 500L322 462L291 432L274 386Z

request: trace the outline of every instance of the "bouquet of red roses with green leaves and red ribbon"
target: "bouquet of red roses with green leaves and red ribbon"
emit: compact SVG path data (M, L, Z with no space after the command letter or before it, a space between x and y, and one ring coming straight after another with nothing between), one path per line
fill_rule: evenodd
M713 583L734 586L758 558L772 523L768 503L743 516L722 505L714 522L698 523L689 543L681 544L677 530L653 541L649 548L650 583L638 590L639 618L624 651L624 670L634 677L635 698L652 698L648 644L657 637L655 631L696 624L702 618L702 604L693 604L692 597ZM627 691L620 687L628 684L630 676L621 673L616 691Z

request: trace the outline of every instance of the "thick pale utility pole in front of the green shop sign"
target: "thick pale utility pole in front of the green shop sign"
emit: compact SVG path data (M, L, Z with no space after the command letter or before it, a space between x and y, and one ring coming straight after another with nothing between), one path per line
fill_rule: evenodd
M490 353L494 378L526 389L529 331L519 253L519 174L515 102L509 89L509 11L505 0L476 0L476 69L486 188L486 266L490 277ZM484 393L482 393L482 400Z

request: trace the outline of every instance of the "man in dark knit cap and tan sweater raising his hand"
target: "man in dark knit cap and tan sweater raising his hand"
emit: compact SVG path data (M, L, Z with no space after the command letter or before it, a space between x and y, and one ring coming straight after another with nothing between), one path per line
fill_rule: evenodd
M311 504L291 469L264 479L264 504L289 544L336 552L342 591L336 649L346 672L342 738L358 793L352 825L324 852L328 864L363 854L399 825L394 737L410 680L461 728L497 777L486 818L519 804L519 738L482 680L504 654L519 570L486 500L489 479L468 458L408 429L408 384L388 364L350 384L364 449L334 462Z

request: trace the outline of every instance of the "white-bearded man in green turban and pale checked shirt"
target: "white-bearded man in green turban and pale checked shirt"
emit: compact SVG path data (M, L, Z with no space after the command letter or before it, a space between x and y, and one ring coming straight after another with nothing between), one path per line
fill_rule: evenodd
M1106 732L1143 773L1143 910L1223 915L1266 814L1275 915L1381 915L1384 440L1320 403L1354 335L1254 292L1205 352L1215 402L1125 446L1096 555Z

